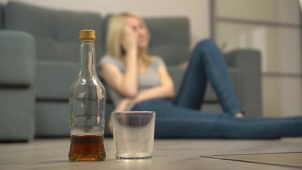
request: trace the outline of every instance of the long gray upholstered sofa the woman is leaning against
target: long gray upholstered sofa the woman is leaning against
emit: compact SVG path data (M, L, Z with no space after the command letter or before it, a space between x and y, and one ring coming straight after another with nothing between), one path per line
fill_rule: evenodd
M22 119L35 122L35 132L32 124L12 125L15 121L12 119L10 122L1 122L0 139L13 139L9 136L11 131L18 132L20 139L24 140L32 139L33 133L36 137L69 136L68 92L78 74L78 31L81 29L96 31L96 53L99 60L104 54L106 26L110 16L101 17L92 12L46 9L15 1L9 1L3 8L3 17L0 17L3 18L0 47L4 46L8 51L1 50L0 59L1 61L7 59L8 64L4 65L8 68L12 68L11 66L16 63L19 65L16 69L0 73L0 94L6 94L0 99L0 114L5 119L11 115L14 117L22 115ZM149 53L163 57L178 89L185 70L180 65L187 61L190 53L189 21L185 17L144 19L152 36ZM15 39L3 39L8 35L24 40L16 43ZM10 44L7 44L8 41ZM18 48L25 48L29 52L15 53L15 49ZM235 91L243 103L247 116L261 115L260 53L255 50L234 50L225 56ZM1 66L2 63L0 62ZM15 77L17 74L21 75ZM32 77L29 80L20 79L24 74L30 74ZM18 82L10 82L12 77ZM15 89L23 89L28 94L24 94L24 98L14 96ZM25 108L14 111L15 105L22 105ZM32 107L35 107L35 114ZM107 95L106 122L113 109L114 105ZM210 87L207 89L202 110L221 111L219 101ZM22 136L18 129L23 128L28 129L30 135ZM108 134L105 128L105 135Z

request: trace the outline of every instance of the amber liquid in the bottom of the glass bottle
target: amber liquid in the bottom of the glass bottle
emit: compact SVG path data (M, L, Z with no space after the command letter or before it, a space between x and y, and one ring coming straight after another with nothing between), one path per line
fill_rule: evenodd
M102 161L106 158L102 135L71 135L69 160Z

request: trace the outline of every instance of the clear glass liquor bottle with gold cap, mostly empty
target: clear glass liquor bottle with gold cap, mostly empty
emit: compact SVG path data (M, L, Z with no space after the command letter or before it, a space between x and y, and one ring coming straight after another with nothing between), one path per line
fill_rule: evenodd
M106 91L96 73L95 31L80 32L80 71L69 92L69 160L106 158L103 134Z

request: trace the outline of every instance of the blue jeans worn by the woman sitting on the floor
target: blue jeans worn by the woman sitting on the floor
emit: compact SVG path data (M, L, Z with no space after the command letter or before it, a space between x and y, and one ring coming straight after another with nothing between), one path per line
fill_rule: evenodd
M206 83L221 101L224 113L200 112ZM173 101L152 99L135 105L134 111L155 111L155 137L273 139L302 136L302 117L235 118L243 112L234 93L225 61L212 40L199 42Z

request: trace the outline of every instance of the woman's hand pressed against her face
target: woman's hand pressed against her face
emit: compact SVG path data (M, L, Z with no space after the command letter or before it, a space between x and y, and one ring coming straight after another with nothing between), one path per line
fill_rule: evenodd
M135 52L137 53L137 40L136 34L130 26L124 26L122 47L124 48L126 54Z

